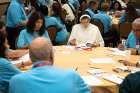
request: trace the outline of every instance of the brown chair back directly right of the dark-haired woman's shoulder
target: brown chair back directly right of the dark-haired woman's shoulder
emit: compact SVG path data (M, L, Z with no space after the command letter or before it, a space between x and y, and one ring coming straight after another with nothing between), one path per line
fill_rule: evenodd
M55 38L56 38L56 34L57 34L57 28L54 25L51 25L49 27L47 27L47 31L50 37L50 40L52 41L52 44L55 44Z

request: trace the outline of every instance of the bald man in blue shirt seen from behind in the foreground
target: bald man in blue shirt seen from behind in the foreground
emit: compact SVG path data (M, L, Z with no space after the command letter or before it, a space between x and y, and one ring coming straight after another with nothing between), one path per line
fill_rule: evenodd
M29 55L33 68L11 79L9 93L91 93L75 71L52 66L53 48L47 39L33 40Z

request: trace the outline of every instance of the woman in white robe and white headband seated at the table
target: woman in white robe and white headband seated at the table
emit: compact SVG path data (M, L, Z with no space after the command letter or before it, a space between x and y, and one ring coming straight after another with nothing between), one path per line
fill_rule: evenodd
M80 24L72 28L69 44L80 45L90 43L92 46L104 46L104 40L97 26L90 23L91 17L84 14L80 17Z

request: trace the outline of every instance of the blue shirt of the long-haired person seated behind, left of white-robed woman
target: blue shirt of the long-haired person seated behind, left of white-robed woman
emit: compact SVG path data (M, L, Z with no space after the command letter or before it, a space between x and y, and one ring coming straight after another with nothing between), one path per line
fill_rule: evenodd
M65 24L61 21L59 17L45 17L45 26L56 26L58 32L56 33L55 42L58 44L64 44L68 39L68 31Z

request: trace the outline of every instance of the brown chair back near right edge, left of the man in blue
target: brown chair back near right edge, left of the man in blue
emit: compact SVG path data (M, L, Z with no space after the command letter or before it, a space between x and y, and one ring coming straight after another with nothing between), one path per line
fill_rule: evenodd
M120 38L127 39L131 30L132 30L132 23L119 24Z

